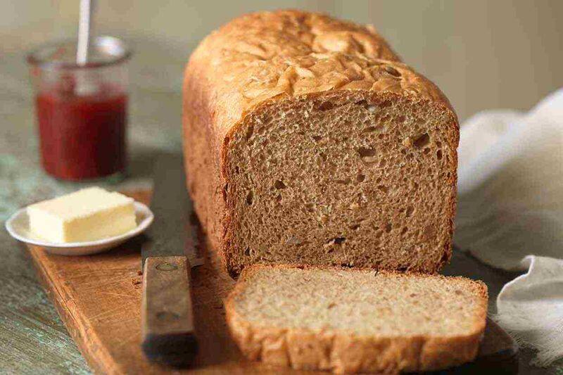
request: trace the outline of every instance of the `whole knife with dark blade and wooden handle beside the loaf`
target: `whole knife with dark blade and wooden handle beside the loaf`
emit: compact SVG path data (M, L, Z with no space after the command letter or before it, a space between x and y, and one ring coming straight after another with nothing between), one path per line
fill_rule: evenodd
M157 156L151 210L155 218L141 246L142 348L151 362L185 367L198 350L190 269L202 265L203 257L182 155Z

